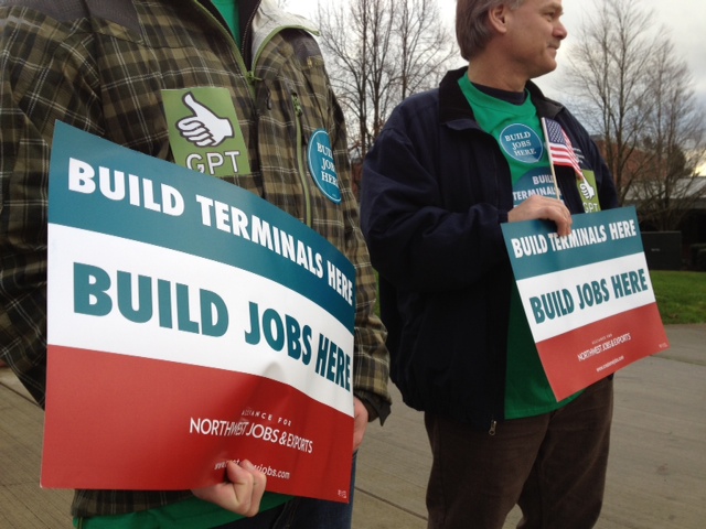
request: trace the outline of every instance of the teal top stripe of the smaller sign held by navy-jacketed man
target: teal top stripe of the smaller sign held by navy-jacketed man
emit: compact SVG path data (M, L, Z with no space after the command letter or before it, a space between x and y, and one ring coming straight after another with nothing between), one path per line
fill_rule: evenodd
M643 252L634 207L574 215L571 235L558 238L554 223L502 225L517 281Z

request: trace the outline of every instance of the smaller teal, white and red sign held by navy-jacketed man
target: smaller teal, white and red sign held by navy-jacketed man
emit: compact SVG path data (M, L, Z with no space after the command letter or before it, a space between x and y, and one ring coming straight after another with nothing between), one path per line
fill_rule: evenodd
M544 370L561 400L668 348L633 207L502 226Z

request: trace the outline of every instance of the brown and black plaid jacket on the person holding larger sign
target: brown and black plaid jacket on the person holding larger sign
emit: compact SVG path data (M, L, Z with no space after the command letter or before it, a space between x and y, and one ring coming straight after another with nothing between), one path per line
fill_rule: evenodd
M55 120L172 160L160 90L225 87L252 165L250 174L225 180L307 223L356 268L354 391L383 420L391 399L385 330L374 314L376 281L359 228L342 111L303 20L282 22L264 1L250 25L255 58L248 72L215 11L195 0L119 2L130 9L94 3L87 17L76 0L0 2L0 358L43 406L47 173ZM331 138L342 192L338 205L301 180L301 138L317 129ZM73 512L129 512L186 495L78 492Z

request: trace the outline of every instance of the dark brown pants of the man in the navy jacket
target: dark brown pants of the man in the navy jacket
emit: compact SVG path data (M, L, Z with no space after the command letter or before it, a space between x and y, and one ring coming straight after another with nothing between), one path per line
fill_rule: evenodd
M601 380L552 413L498 424L495 435L425 414L434 456L429 529L588 529L602 506L613 403Z

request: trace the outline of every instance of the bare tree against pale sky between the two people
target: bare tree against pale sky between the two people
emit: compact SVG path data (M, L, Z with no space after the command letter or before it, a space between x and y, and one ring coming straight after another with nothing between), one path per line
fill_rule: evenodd
M317 23L355 158L363 158L393 108L436 86L456 55L437 0L320 2Z

